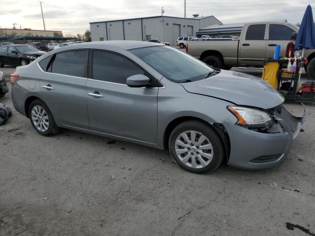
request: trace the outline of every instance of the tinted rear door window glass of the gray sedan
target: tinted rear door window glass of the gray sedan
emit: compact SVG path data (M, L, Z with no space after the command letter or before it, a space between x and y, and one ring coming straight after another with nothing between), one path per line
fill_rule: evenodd
M87 77L88 51L77 50L56 54L51 72L62 75Z

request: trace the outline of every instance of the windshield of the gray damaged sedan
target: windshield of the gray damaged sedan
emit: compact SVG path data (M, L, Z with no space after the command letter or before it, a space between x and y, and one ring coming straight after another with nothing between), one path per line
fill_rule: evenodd
M214 71L200 60L170 47L146 47L129 51L175 83L202 80Z

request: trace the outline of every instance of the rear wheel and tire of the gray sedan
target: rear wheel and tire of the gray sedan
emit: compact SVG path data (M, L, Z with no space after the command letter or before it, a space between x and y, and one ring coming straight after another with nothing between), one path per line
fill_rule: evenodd
M60 131L49 108L40 99L32 101L29 108L29 118L33 128L43 136L57 134Z

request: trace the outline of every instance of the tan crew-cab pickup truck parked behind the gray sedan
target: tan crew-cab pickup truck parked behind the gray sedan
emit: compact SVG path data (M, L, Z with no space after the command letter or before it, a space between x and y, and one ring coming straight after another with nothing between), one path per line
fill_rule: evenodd
M280 56L285 57L286 46L292 39L294 42L298 30L286 22L248 23L239 39L191 41L188 53L217 68L263 67L265 58L274 57L277 44L281 45ZM315 78L315 50L306 50L305 58L308 64L304 69L310 78Z

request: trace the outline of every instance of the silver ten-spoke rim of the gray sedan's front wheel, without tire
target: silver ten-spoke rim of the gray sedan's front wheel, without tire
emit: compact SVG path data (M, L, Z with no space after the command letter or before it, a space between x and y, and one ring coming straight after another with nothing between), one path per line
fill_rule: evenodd
M214 154L209 139L193 130L185 131L176 138L175 152L181 162L195 169L208 166Z

